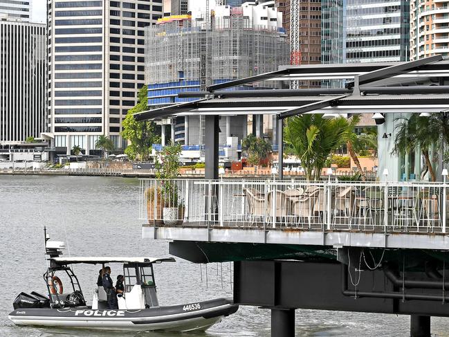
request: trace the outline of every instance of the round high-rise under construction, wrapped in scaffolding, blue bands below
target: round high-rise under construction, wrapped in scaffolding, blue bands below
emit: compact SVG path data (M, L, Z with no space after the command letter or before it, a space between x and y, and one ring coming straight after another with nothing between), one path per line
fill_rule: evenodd
M176 94L275 71L287 64L288 44L281 24L282 13L276 8L254 4L217 6L210 16L193 13L159 19L145 32L149 107L194 100ZM269 82L262 85L273 86ZM221 121L220 143L226 143L225 137L246 136L244 118ZM199 117L178 118L172 125L172 138L185 144L202 144L201 125ZM259 125L262 127L262 121Z

